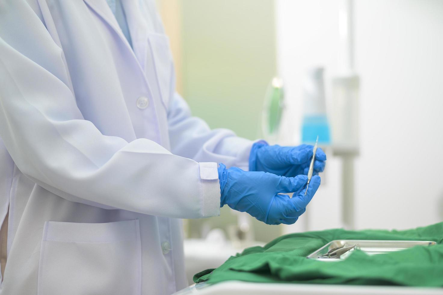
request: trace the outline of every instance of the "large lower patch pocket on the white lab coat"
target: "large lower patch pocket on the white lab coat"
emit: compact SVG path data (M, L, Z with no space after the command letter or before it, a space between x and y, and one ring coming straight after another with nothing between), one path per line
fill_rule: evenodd
M38 295L132 295L140 286L138 220L45 223Z

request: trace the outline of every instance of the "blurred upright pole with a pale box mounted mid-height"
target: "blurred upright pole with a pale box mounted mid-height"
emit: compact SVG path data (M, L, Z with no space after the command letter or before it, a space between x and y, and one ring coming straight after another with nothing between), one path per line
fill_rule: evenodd
M353 1L341 0L338 13L338 75L332 79L333 153L342 157L342 222L354 228L354 158L359 153L359 77L354 72Z

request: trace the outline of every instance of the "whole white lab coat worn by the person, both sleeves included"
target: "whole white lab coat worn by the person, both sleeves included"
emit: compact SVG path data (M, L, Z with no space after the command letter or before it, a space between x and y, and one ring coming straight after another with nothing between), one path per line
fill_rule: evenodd
M0 294L187 285L179 218L219 214L252 142L190 116L152 2L123 1L132 49L105 0L0 1Z

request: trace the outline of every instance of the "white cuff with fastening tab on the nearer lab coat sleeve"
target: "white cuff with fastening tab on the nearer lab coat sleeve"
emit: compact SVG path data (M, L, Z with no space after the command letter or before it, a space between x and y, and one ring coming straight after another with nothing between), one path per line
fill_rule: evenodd
M200 208L202 217L220 215L220 181L218 164L200 162Z

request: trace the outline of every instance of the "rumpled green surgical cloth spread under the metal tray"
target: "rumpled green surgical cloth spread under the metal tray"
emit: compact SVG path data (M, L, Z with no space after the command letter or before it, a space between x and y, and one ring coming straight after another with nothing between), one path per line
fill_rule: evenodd
M374 256L356 250L337 262L306 258L332 240L427 240L437 245ZM194 275L195 283L227 280L443 287L443 222L404 231L331 229L289 234Z

